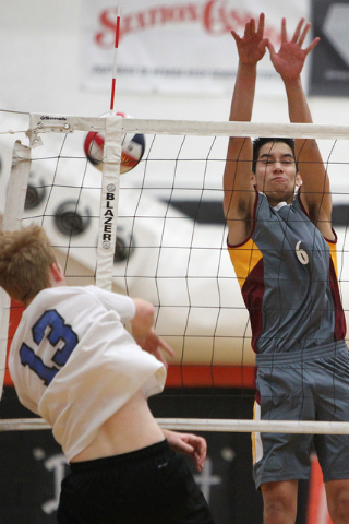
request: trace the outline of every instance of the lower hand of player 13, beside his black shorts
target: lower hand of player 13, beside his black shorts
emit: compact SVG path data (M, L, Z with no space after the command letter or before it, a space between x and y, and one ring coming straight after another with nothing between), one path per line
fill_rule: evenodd
M163 429L161 431L171 450L191 456L196 469L198 472L203 469L207 453L205 439L197 437L197 434L180 433L178 431L170 431L169 429Z

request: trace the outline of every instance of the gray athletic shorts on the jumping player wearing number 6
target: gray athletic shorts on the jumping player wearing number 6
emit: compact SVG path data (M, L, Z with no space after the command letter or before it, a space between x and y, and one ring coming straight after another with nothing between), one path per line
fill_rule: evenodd
M349 421L349 352L321 348L257 355L255 419ZM315 449L324 481L349 478L349 434L253 433L253 477L261 484L306 479Z

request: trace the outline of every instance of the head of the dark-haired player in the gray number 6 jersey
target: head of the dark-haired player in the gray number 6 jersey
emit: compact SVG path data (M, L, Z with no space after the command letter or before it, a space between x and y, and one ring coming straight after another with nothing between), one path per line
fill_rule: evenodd
M252 181L267 196L270 205L291 202L296 186L301 184L291 147L284 142L264 144L260 150Z

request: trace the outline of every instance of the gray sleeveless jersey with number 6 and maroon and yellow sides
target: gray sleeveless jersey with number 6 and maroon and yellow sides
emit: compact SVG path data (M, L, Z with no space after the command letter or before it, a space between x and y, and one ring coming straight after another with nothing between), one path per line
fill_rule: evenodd
M255 353L302 350L345 338L336 241L324 239L299 195L274 209L258 193L252 234L228 249Z

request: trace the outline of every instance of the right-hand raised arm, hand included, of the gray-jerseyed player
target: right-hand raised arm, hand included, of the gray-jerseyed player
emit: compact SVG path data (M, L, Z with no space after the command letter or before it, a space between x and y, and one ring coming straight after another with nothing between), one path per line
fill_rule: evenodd
M303 27L303 23L304 19L300 21L292 39L288 41L286 20L282 19L280 50L276 53L270 43L268 44L268 48L272 62L276 71L281 75L285 84L290 121L312 123L312 116L302 87L300 74L306 56L316 46L320 38L315 38L309 47L302 49L302 45L311 26L311 24L308 23ZM310 139L296 140L296 158L303 180L301 189L302 203L310 218L324 237L333 239L329 179L316 141Z

